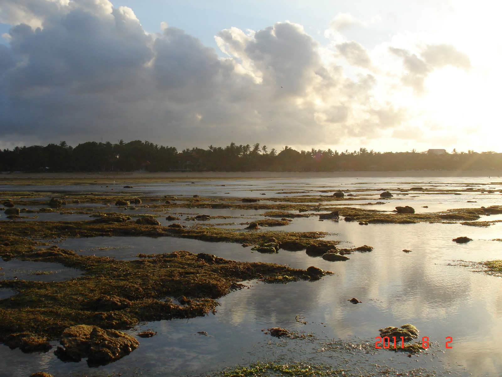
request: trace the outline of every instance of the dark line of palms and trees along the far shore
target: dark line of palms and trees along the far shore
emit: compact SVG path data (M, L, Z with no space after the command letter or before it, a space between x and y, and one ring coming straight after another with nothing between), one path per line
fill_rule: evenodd
M437 150L434 150L437 151ZM71 147L62 141L0 151L0 171L405 171L502 170L502 153L374 152L309 150L288 146L282 151L231 143L226 147L192 148L181 152L148 141L117 144L89 141Z

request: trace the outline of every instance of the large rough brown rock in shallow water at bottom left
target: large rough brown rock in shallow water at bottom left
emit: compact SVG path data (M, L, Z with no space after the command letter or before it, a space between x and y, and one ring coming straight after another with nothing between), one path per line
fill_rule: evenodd
M96 326L77 325L63 331L55 355L63 361L78 362L88 357L87 364L106 365L138 348L140 344L131 335L117 330L103 330Z

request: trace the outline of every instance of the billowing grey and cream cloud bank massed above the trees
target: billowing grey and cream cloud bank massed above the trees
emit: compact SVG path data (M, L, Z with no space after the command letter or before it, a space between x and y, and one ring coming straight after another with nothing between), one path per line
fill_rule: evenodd
M102 137L332 146L400 127L409 109L392 96L424 90L433 69L468 66L453 46L426 45L421 57L391 48L410 72L397 87L358 42L323 48L290 22L222 30L220 58L165 23L146 33L133 10L107 0L0 0L0 18L13 25L0 45L0 145ZM343 14L332 23L350 25L358 21Z

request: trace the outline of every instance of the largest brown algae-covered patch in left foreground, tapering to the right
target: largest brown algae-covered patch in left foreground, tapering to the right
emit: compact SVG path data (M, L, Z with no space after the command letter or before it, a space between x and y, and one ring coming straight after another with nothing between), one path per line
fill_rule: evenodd
M76 325L118 330L141 321L204 316L215 311L216 299L240 288L239 281L285 283L331 274L188 251L122 261L81 256L52 246L19 252L17 257L59 262L85 271L85 276L59 282L0 281L0 288L17 292L0 300L0 337L4 341L11 334L27 331L53 339ZM185 305L177 305L172 297L188 299Z

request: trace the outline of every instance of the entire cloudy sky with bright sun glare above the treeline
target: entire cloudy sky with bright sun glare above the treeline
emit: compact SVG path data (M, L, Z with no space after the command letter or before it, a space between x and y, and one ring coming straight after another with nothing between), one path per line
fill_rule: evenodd
M502 152L501 8L0 0L0 148Z

